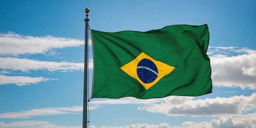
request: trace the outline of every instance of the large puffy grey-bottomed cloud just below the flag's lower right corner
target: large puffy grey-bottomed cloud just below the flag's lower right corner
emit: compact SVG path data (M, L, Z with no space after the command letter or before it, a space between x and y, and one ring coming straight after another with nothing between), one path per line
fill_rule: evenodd
M250 96L233 96L229 98L207 98L193 100L193 97L170 96L159 104L140 105L139 110L163 113L168 116L240 116L255 110L256 93Z

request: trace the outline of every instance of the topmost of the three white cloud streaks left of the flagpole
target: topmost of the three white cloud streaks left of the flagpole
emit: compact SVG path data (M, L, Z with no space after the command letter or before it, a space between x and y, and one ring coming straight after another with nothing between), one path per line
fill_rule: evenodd
M0 33L0 55L44 54L51 49L78 47L84 40L55 36L24 36L13 32ZM91 45L91 40L89 40Z

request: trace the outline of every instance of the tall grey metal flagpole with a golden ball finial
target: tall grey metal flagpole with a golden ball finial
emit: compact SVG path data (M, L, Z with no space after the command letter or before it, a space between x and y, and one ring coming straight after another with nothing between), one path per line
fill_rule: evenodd
M84 40L84 81L83 81L83 128L87 127L87 74L88 74L88 26L89 18L88 13L90 12L89 8L85 9L86 18L85 22L85 40Z

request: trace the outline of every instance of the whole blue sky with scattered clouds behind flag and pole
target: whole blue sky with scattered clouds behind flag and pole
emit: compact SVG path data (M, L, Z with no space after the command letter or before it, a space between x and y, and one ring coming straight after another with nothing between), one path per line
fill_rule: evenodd
M2 0L0 128L82 126L85 8L99 31L207 24L213 80L199 97L92 99L91 128L255 127L255 1Z

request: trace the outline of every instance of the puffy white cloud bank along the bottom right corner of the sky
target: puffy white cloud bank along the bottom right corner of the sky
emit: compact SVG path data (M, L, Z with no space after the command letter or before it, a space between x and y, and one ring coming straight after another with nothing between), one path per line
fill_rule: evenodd
M251 116L250 118L235 118L233 119L231 116L220 117L218 120L211 120L210 122L184 122L182 126L187 128L226 128L226 127L256 127L256 117Z

